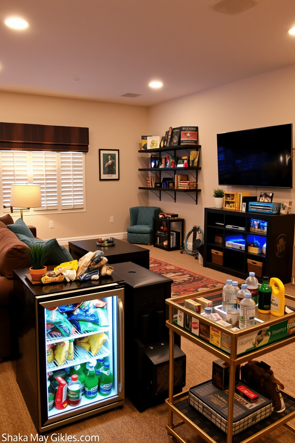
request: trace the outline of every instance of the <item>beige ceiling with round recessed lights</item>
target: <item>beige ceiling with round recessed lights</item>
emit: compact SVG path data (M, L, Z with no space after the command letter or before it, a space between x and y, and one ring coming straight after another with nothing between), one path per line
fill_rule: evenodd
M294 0L238 15L213 2L1 0L0 90L153 105L295 64ZM11 15L30 27L6 27Z

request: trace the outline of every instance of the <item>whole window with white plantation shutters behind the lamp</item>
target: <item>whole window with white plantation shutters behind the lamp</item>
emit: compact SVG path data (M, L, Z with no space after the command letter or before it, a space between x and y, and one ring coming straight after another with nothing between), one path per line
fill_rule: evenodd
M0 151L3 206L10 204L11 183L41 186L42 207L33 211L84 208L84 153L52 151Z

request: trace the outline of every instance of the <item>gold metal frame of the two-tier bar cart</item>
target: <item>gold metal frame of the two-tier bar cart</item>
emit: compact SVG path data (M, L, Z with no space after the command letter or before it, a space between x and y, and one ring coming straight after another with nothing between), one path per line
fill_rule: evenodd
M185 299L194 299L195 297L205 297L206 295L215 294L218 296L218 292L220 296L222 296L222 287L215 288L214 290L202 291L201 293L183 295L180 297L173 297L172 299L166 299L166 303L169 305L169 319L166 321L166 326L169 328L169 338L170 338L170 346L169 346L169 398L166 400L166 405L168 407L168 424L166 425L166 431L170 441L172 442L182 442L186 443L185 440L177 433L177 427L182 424L187 424L190 428L192 428L198 435L200 435L207 442L218 442L218 443L250 443L254 442L257 439L260 439L262 436L267 435L269 432L273 431L277 427L286 424L288 421L295 418L295 398L288 394L285 391L282 391L282 396L284 397L284 401L286 404L286 411L284 413L276 414L272 413L268 419L262 420L257 423L257 425L253 425L243 431L240 434L233 436L233 413L234 413L234 377L235 377L235 369L241 363L245 363L250 359L257 358L263 354L271 352L273 350L279 349L287 344L295 342L295 328L291 331L291 334L287 336L287 338L283 338L280 341L273 342L264 347L260 347L257 350L251 352L244 352L238 354L238 343L243 341L243 337L247 334L261 329L261 323L249 326L243 330L231 330L224 328L220 325L216 325L214 322L210 320L204 319L203 316L199 314L192 313L192 311L188 310L184 306L181 306L179 302L183 302ZM285 294L286 304L290 304L295 307L295 297L291 295ZM177 303L178 302L178 303ZM218 304L218 301L214 304ZM191 334L190 332L184 330L180 326L174 323L174 313L176 311L182 311L184 314L193 315L193 317L197 320L201 319L203 323L206 323L209 326L217 327L221 333L226 334L230 337L230 347L228 350L228 354L226 354L221 348L213 346L209 342L203 341L196 335ZM275 317L273 315L267 314L264 315L264 327L272 327L277 323L281 323L282 321L287 320L291 323L294 323L295 320L295 312L291 312L290 314L286 314L283 317ZM218 427L212 424L209 420L206 419L202 414L197 412L194 408L192 408L188 401L188 391L180 392L173 396L173 359L174 359L174 350L173 350L173 342L174 342L174 333L180 334L183 337L187 338L189 341L195 343L195 345L200 346L204 350L207 350L211 354L215 355L218 358L221 358L223 361L226 361L230 365L230 382L229 382L229 402L228 402L228 431L227 434L223 433ZM178 421L173 422L173 414L177 417ZM180 420L179 420L180 419ZM207 422L207 423L206 423ZM293 431L295 428L287 425Z

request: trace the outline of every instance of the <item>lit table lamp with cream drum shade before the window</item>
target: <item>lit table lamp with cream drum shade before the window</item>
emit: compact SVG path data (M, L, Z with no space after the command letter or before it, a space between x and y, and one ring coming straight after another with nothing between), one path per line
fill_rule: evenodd
M23 209L39 208L41 206L41 186L29 183L11 183L10 208L20 209L23 220Z

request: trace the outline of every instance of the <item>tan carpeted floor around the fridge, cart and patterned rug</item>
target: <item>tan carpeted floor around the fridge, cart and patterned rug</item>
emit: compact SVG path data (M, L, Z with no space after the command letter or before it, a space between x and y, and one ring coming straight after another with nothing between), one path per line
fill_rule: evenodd
M192 273L210 277L212 284L216 284L219 281L225 283L226 278L232 277L222 272L203 268L198 260L195 260L193 256L188 254L180 254L179 251L167 252L153 248L153 246L142 246L149 248L150 256L153 259L174 264L176 272L177 268L184 268ZM155 262L151 260L152 263ZM156 271L156 269L154 270ZM191 284L193 292L200 289L197 280L195 283L195 285ZM205 282L205 284L211 283L209 280L207 280L207 283ZM288 288L286 292L292 294L292 290L294 293L294 287L291 287L290 284L290 290ZM186 387L184 390L188 390L190 387L211 378L212 361L215 357L184 338L181 341L181 348L187 356ZM284 348L265 354L261 356L261 359L271 365L276 377L284 383L286 391L295 396L295 344L292 343ZM130 370L132 370L132 365ZM136 389L136 386L134 386L134 389ZM165 404L154 406L145 412L139 413L126 398L126 404L123 407L45 433L45 438L36 440L37 431L15 381L15 362L7 361L0 364L0 435L2 436L2 442L8 442L7 434L12 435L9 441L21 441L13 439L14 435L18 438L20 434L27 435L27 441L29 442L33 441L32 437L35 441L42 442L46 441L46 437L49 437L48 442L70 441L68 439L69 436L75 436L77 441L82 441L81 437L83 435L90 436L90 439L86 440L84 438L84 441L95 441L94 436L98 435L100 443L168 443L169 440L165 432L165 424L167 422L168 412ZM295 427L295 420L292 420L291 424ZM180 426L178 430L187 443L204 443L204 440L188 426ZM97 441L98 439L96 438ZM284 426L280 426L257 441L259 443L295 443L295 433Z

